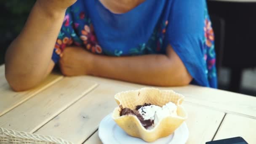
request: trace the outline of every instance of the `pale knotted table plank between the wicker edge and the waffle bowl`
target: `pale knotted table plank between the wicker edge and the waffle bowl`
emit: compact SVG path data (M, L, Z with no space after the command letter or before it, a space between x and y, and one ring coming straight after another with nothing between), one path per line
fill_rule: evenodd
M115 83L101 84L36 133L62 137L75 144L81 144L96 131L101 119L117 106L115 93L132 88Z

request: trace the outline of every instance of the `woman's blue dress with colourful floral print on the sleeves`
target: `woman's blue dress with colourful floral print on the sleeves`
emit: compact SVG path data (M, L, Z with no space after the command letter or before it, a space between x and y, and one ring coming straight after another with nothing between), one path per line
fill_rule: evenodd
M107 56L165 54L170 44L192 84L216 88L214 35L205 0L145 0L116 14L99 0L77 0L66 11L53 50L57 63L76 45Z

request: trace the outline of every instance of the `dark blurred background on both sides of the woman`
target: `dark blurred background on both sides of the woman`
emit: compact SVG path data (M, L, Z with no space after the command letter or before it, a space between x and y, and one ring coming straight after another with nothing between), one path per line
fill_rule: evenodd
M250 2L248 2L250 1ZM0 64L35 0L0 0ZM256 96L256 0L208 0L219 89Z

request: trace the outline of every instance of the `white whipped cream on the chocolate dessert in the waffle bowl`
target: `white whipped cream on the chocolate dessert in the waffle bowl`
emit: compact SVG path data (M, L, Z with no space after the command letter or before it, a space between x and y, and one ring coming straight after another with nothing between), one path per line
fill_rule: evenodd
M141 107L138 112L144 120L154 120L154 125L157 125L163 118L177 115L177 106L173 102L165 104L163 107L150 105Z

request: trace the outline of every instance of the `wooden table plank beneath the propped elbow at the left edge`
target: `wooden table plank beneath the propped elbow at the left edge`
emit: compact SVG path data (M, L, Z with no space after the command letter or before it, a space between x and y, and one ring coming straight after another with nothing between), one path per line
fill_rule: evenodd
M5 79L4 71L5 68L3 65L0 67L0 116L63 78L61 75L52 73L36 88L17 93L11 90Z

